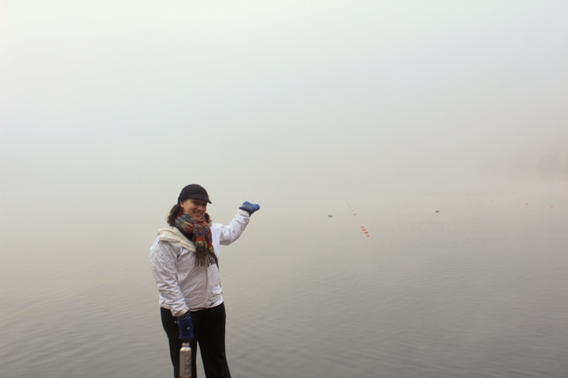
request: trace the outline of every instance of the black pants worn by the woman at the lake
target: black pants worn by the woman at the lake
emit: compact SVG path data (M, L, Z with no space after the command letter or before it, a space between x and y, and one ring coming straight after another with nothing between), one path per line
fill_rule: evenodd
M178 322L168 308L160 308L162 325L170 340L170 356L172 357L173 376L180 377L180 349L182 342L179 338ZM193 339L190 341L192 350L192 378L197 377L197 343L200 345L201 359L207 378L231 378L229 365L225 355L225 305L219 304L212 308L192 311Z

